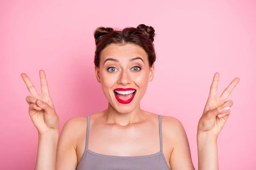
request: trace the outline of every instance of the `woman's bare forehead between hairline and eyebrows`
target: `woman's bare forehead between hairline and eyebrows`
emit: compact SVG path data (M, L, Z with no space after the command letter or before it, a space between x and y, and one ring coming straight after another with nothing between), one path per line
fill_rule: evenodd
M102 60L111 57L111 58L133 58L133 57L142 57L144 60L147 58L147 53L143 48L138 45L127 43L125 45L120 44L111 44L104 48L101 52Z

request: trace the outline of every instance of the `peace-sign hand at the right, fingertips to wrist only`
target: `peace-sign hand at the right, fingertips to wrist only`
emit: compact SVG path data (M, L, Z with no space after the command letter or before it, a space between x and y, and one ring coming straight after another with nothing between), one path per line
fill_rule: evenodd
M215 73L203 115L198 122L198 132L210 132L216 137L224 127L231 112L230 107L233 105L232 100L226 101L226 99L240 79L238 77L233 79L220 97L217 96L218 81L219 74Z

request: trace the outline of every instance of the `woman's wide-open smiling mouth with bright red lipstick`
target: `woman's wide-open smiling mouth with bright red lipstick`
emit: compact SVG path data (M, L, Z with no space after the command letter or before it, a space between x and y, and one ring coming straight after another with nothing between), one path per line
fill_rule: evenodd
M119 103L128 104L133 100L136 90L134 88L116 88L114 94Z

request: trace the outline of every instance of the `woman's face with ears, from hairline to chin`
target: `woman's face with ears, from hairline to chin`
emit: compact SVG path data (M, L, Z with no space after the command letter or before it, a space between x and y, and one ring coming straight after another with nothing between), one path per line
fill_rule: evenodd
M148 56L140 46L111 44L102 50L95 73L113 108L130 113L140 105L154 77L154 65L149 67Z

